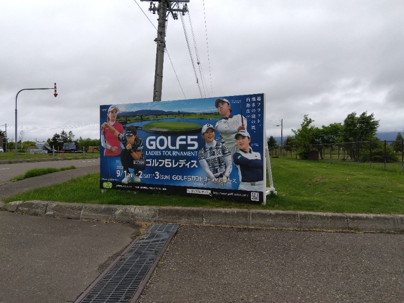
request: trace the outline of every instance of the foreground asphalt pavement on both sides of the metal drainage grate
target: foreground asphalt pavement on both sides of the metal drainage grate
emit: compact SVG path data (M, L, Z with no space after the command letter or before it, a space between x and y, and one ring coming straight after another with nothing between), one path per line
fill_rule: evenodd
M73 302L138 230L0 212L0 303ZM182 225L138 303L403 298L404 234Z

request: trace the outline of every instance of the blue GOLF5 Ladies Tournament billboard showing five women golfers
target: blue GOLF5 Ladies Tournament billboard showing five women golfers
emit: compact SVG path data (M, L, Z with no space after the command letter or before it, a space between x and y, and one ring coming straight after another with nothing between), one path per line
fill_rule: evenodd
M100 106L100 188L266 199L265 94Z

